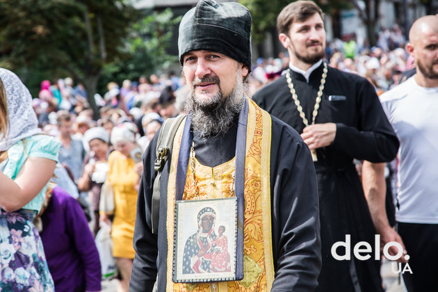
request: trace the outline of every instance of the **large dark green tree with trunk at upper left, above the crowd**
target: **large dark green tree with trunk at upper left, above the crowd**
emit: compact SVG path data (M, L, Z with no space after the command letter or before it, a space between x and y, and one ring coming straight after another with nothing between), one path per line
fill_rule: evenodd
M102 69L129 56L126 43L138 16L124 0L0 0L1 64L24 78L40 66L40 76L69 74L86 86L96 110L92 97Z

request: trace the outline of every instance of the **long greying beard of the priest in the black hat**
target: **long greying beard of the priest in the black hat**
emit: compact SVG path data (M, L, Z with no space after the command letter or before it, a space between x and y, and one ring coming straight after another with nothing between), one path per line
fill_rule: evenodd
M241 70L237 71L236 86L229 97L225 98L218 77L204 77L193 81L194 85L202 82L215 82L219 86L218 93L208 100L197 99L194 89L187 98L185 109L192 115L192 129L202 138L227 133L234 119L241 112L245 101L245 92L248 92L248 84L243 83L241 75L238 76L241 74Z

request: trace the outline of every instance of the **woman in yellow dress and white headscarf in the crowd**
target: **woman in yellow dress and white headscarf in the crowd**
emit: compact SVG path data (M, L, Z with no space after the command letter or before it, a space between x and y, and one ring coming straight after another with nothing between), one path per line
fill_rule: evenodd
M141 157L143 151L136 143L137 127L131 122L124 122L114 127L111 132L113 151L108 157L109 170L106 181L111 184L114 193L114 220L111 229L113 238L113 257L117 262L120 275L119 291L129 290L133 250L133 230L136 221L136 206L140 175L143 172ZM108 217L101 213L101 220L108 222Z

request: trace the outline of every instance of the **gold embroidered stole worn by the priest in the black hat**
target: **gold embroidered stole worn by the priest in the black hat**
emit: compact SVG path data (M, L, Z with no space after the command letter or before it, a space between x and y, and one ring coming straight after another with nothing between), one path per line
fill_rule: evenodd
M270 212L270 115L248 100L248 126L245 152L245 211L243 239L243 271L241 281L218 282L216 291L270 291L274 281L272 225ZM167 291L212 291L213 284L175 284L172 282L173 240L175 226L176 167L184 123L175 136L168 181ZM229 197L235 158L209 168L195 160L195 179L201 199ZM263 167L262 167L263 165ZM183 200L192 200L193 173L188 167Z

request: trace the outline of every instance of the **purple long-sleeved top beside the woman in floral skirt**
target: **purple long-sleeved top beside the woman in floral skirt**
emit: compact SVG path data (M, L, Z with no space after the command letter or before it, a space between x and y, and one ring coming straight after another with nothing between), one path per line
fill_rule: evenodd
M81 206L56 186L40 233L56 292L100 291L99 253Z

